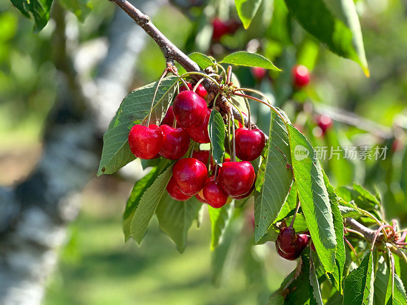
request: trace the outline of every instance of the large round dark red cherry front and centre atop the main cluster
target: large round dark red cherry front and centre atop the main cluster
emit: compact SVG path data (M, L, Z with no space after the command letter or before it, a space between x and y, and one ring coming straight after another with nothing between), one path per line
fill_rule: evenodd
M196 93L186 90L174 99L172 110L177 122L185 128L198 127L207 116L207 102Z

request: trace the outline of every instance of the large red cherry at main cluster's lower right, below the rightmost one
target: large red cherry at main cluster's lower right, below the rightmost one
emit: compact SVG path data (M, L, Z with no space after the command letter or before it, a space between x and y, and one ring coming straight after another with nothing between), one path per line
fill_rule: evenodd
M225 162L219 169L219 184L230 197L246 194L256 177L250 162Z

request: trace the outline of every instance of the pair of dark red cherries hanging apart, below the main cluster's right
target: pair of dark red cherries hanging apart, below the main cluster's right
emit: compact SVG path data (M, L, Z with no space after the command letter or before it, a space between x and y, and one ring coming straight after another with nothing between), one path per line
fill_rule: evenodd
M295 260L307 247L309 237L307 234L296 234L292 227L282 227L276 240L278 254L285 259Z

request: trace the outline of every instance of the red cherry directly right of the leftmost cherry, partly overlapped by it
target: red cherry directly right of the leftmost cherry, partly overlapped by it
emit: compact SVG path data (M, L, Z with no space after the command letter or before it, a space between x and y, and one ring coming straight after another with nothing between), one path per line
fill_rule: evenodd
M160 129L164 135L164 141L160 155L169 160L182 158L188 150L190 138L184 128L172 128L161 125Z

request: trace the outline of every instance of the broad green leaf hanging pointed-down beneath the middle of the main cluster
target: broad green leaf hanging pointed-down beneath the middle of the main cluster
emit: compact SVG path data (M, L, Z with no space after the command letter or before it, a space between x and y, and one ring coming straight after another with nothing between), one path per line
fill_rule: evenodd
M175 242L180 252L185 249L188 230L193 220L197 219L201 205L195 196L186 201L178 201L166 192L157 206L160 229Z

